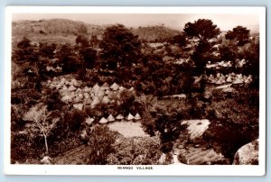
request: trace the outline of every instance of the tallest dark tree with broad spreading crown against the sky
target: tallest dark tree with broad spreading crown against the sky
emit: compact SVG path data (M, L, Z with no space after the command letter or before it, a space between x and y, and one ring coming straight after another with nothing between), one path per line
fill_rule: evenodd
M206 62L211 59L211 40L217 38L220 34L220 28L216 24L213 24L211 20L199 19L194 23L186 23L183 33L189 39L196 39L198 41L192 59L197 67L198 73L196 74L201 74L204 71Z

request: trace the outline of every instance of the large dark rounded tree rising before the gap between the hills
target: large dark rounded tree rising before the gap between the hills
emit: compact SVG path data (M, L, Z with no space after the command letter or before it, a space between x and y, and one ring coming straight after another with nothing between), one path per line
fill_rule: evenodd
M141 43L138 37L122 24L106 29L100 48L101 58L111 68L117 68L117 64L131 66L140 59Z

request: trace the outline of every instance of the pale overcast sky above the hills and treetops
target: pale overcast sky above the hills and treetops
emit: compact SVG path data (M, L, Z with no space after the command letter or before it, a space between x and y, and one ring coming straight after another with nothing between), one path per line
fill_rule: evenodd
M182 30L185 23L199 18L212 20L220 30L228 31L237 25L248 27L251 32L258 32L257 14L13 14L13 21L64 18L91 24L122 23L127 27L157 25Z

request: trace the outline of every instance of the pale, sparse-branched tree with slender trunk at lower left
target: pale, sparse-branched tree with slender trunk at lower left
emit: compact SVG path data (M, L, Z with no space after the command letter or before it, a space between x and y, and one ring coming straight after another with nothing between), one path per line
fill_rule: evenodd
M33 122L27 125L30 135L43 137L47 155L49 154L47 138L56 123L60 121L60 117L55 117L54 114L54 112L48 112L46 105L35 105L23 116L24 121Z

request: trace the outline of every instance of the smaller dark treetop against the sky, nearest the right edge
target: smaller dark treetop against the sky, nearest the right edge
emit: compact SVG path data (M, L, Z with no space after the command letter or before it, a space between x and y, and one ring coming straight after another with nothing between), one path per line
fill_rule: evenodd
M237 41L238 46L243 46L249 42L249 30L243 26L237 26L232 29L232 31L228 31L225 34L225 38L228 40Z

